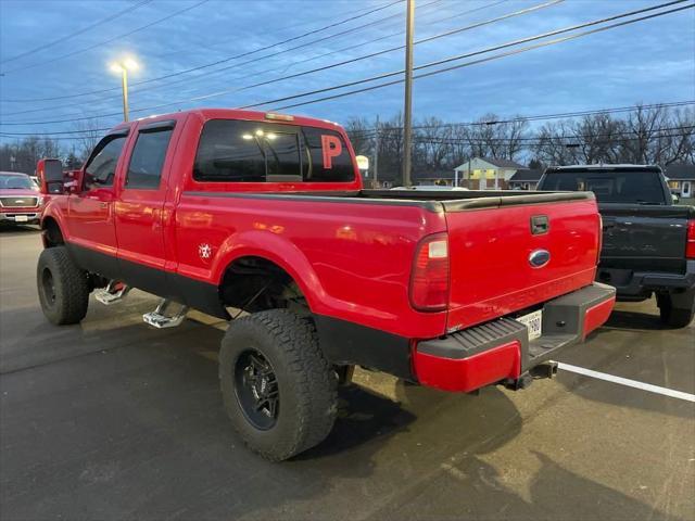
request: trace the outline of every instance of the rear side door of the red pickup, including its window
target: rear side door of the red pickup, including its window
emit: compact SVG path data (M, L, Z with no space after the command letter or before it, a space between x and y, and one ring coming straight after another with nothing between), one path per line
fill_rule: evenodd
M178 139L175 130L174 119L138 125L115 201L122 278L159 295L167 294L164 203L173 155L168 150Z

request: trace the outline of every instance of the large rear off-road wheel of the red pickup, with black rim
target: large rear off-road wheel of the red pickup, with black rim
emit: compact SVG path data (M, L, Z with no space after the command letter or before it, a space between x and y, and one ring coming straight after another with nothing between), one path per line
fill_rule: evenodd
M266 459L300 454L333 427L338 378L314 325L291 312L231 322L219 351L219 381L235 430Z

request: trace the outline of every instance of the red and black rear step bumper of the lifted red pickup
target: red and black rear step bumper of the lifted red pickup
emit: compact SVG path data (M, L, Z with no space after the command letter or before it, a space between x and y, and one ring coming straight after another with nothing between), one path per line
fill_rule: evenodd
M444 391L471 392L513 383L568 345L601 327L616 302L612 287L593 283L543 306L542 334L529 341L527 327L500 318L419 342L413 353L417 380Z

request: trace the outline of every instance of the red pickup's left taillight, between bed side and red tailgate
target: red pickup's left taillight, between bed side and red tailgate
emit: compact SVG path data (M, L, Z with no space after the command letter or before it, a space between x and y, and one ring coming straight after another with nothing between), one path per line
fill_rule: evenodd
M440 312L448 304L448 240L446 233L422 239L415 252L410 304L420 312Z

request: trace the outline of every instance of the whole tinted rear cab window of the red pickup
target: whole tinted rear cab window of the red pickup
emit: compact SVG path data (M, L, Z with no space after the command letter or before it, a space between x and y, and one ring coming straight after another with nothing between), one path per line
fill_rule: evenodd
M211 119L200 137L199 182L353 182L350 149L330 129Z

